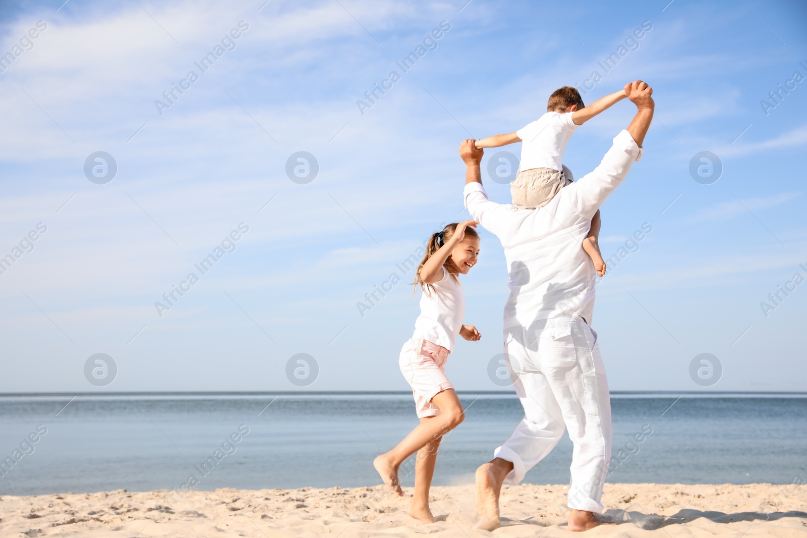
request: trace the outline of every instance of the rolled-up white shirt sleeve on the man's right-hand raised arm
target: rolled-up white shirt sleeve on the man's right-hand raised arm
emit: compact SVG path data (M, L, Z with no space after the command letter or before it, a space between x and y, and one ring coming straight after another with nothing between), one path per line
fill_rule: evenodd
M640 148L630 133L623 130L613 139L611 149L594 171L583 176L569 187L575 191L577 211L590 219L608 195L622 183L633 162L642 158Z

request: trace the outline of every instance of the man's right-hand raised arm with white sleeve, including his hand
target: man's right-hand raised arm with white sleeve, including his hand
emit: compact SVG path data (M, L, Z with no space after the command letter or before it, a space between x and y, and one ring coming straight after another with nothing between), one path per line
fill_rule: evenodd
M594 216L608 195L622 183L633 162L642 157L642 143L655 108L651 97L653 89L640 80L628 82L625 95L636 105L636 116L628 128L613 139L613 146L605 153L600 165L577 183L566 187L575 192L577 211L587 219Z

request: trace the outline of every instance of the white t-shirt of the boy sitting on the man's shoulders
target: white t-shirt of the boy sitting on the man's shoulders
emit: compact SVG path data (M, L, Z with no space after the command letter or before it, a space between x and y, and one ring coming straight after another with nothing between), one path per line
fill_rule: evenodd
M521 138L521 166L519 170L552 168L563 170L561 158L566 145L578 125L571 120L571 112L546 112L543 116L516 131Z

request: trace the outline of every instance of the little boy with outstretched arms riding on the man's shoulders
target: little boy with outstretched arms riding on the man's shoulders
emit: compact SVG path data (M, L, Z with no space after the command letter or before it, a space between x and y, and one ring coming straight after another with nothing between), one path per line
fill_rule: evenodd
M495 135L476 141L476 148L498 148L524 142L521 145L521 166L516 179L510 183L512 204L518 209L541 208L574 178L563 166L561 158L571 133L594 116L625 99L625 90L597 99L586 107L575 88L563 86L550 95L546 114L533 123L509 134ZM583 250L592 258L597 275L605 274L605 260L600 254L600 211L592 218Z

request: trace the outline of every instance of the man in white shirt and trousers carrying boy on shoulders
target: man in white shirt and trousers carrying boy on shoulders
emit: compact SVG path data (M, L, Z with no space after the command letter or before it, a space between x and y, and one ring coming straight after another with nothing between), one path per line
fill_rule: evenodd
M540 209L487 200L479 173L483 150L473 140L460 146L466 208L504 246L510 288L504 353L525 410L494 459L476 470L478 528L499 527L502 483L521 481L565 429L574 443L568 528L585 531L602 524L595 512L604 510L600 498L611 457L611 406L596 333L589 326L596 273L581 243L594 213L642 156L655 106L652 93L642 81L625 85L625 95L638 109L633 121L613 139L600 166Z

